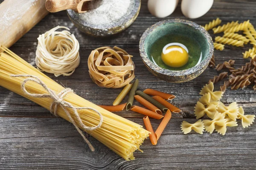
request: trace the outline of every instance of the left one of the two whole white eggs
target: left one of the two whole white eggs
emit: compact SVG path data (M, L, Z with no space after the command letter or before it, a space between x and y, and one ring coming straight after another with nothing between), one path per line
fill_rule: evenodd
M172 14L179 0L148 0L148 11L159 18Z

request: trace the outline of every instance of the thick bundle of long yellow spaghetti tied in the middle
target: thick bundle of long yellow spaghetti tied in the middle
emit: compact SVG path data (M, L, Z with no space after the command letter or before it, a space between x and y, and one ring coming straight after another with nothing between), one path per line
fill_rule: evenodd
M143 129L141 125L106 111L73 93L70 89L68 89L69 91L67 92L67 89L47 77L32 65L29 65L29 63L18 57L8 48L1 47L1 49L3 50L0 54L1 86L32 100L48 110L52 111L53 109L58 116L70 122L73 120L75 126L77 125L82 130L85 130L88 134L105 144L124 159L134 159L134 151L137 149L140 150L140 145L143 143L143 140L149 136L149 132ZM32 75L32 77L38 77L38 79L47 86L48 90L46 90L42 84L33 80L26 81L25 84L23 81L26 80L27 77L11 77L12 75ZM22 84L24 84L26 91L32 95L27 95L21 90L20 87ZM58 94L60 100L56 100L52 97L55 94ZM41 97L35 97L33 95L41 95ZM60 105L59 103L62 104ZM70 106L66 106L63 103ZM92 108L93 110L84 108ZM75 109L79 119L77 119L75 115ZM70 113L72 120L66 111ZM100 127L101 119L97 112L99 112L103 118ZM79 120L82 125L89 130L84 129L79 123Z

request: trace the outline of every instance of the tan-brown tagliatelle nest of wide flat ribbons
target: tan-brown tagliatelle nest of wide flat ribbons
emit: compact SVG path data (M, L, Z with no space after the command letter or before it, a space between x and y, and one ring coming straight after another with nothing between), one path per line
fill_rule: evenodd
M133 56L116 46L93 50L88 58L91 79L101 87L122 88L135 77L131 57Z

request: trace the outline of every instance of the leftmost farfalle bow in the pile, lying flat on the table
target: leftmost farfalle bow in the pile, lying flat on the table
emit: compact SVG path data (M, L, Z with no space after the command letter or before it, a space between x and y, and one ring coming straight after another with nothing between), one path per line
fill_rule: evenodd
M198 120L197 122L191 124L189 122L183 121L181 124L181 130L184 132L184 134L191 132L191 130L203 134L204 122L202 122L202 120Z

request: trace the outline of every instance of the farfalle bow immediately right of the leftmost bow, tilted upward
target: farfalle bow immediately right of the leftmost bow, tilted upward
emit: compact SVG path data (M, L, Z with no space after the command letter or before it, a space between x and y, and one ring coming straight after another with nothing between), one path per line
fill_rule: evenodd
M203 120L204 128L207 132L212 133L215 129L215 125L225 126L226 119L221 113L216 113L212 120ZM223 133L222 131L219 133Z

